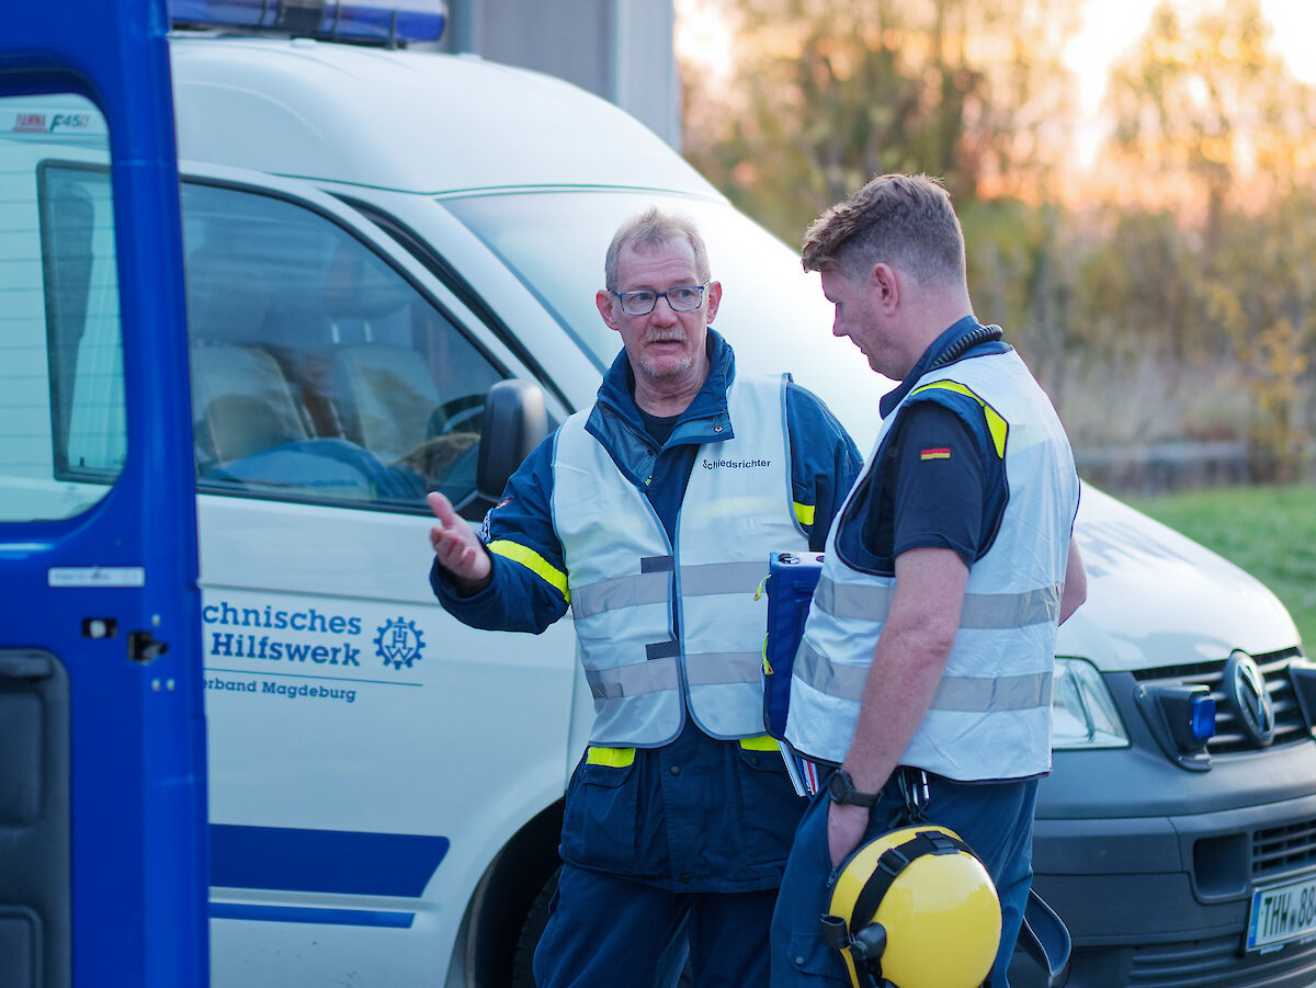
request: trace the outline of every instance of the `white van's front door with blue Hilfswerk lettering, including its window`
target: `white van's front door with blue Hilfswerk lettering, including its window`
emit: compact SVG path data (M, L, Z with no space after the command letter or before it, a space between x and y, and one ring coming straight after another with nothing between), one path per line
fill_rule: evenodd
M425 984L569 771L570 624L479 631L428 583L425 492L483 516L484 396L534 375L355 209L182 168L212 977Z

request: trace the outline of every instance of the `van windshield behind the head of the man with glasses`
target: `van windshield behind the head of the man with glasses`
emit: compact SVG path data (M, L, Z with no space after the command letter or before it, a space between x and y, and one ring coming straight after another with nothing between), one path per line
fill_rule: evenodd
M717 329L742 370L790 371L822 397L862 453L878 430L878 399L892 385L849 339L832 335L817 274L730 204L655 192L519 192L442 203L544 303L599 370L621 346L595 308L613 232L650 205L695 221L722 283Z

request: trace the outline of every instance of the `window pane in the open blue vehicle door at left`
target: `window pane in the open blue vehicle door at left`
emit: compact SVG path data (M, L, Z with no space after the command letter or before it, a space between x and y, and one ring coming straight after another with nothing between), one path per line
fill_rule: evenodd
M128 453L105 121L0 99L0 521L96 504Z

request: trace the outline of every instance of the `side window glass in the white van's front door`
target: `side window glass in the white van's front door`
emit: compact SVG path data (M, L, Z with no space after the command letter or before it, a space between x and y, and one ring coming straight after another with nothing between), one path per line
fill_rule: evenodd
M418 508L475 489L503 374L370 247L311 209L183 187L201 489Z

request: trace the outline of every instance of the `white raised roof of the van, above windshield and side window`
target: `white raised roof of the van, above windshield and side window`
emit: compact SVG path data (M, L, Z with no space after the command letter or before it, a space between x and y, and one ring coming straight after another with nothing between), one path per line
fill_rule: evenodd
M634 117L524 68L309 38L172 36L170 57L182 159L429 195L611 185L722 197Z

